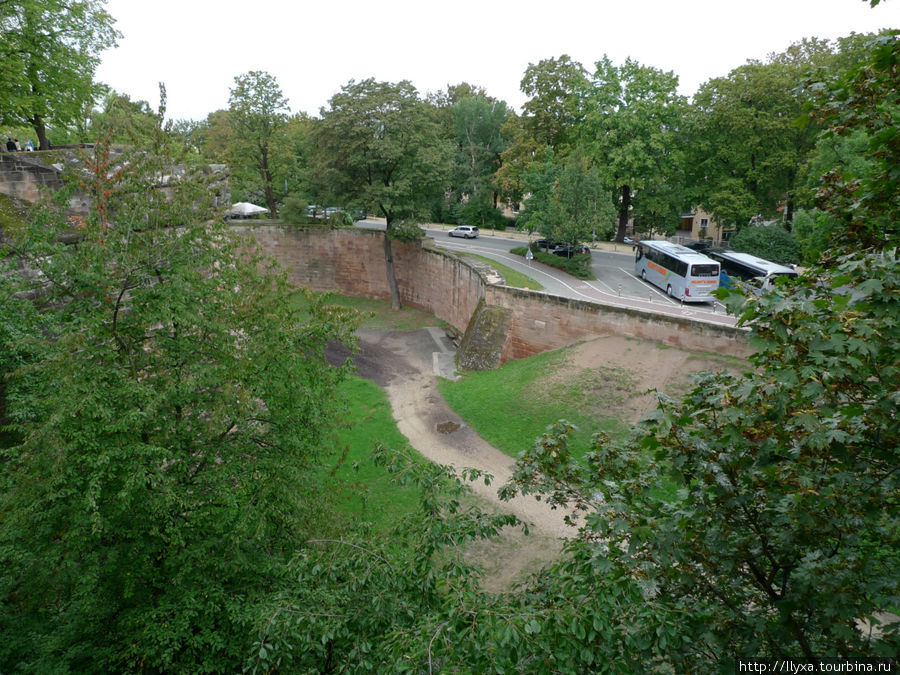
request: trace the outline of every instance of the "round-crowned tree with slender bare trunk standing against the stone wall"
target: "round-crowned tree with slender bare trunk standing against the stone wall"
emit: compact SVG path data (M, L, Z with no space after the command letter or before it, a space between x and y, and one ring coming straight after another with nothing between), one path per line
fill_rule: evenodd
M443 195L453 147L434 108L408 81L351 80L331 97L315 131L321 180L348 205L386 222L384 258L391 305L400 308L391 240L417 236L414 223Z

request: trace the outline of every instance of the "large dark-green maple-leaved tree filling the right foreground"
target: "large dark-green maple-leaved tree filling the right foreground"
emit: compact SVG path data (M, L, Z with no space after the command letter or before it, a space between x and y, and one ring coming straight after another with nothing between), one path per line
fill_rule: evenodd
M876 41L822 90L830 133L884 129L874 111L896 98L897 52ZM890 180L895 138L871 134L873 176ZM721 291L752 331L752 369L661 397L625 447L598 436L586 465L565 424L520 458L507 494L584 516L531 596L552 617L537 640L589 636L586 651L567 651L573 670L598 656L686 672L698 660L900 650L900 625L884 621L900 592L900 260L882 229L898 205L876 180L831 185L843 189L823 191L823 210L856 227L835 231L823 264L776 293Z

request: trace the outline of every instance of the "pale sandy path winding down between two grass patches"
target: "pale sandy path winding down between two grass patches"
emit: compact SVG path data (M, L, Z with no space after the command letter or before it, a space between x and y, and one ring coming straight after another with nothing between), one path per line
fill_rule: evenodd
M394 418L410 444L424 457L454 467L473 467L494 476L490 486L472 490L499 510L513 513L536 533L572 536L563 513L533 497L500 500L497 489L512 475L513 459L486 443L450 409L437 389L438 360L452 357L452 345L438 330L360 331L359 374L387 392ZM442 431L443 430L443 431Z

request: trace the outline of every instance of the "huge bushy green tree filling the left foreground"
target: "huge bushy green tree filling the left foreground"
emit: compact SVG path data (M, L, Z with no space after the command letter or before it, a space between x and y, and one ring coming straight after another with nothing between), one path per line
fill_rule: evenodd
M355 323L292 306L190 174L162 189L159 141L96 147L91 217L40 205L14 242L40 275L0 275L4 672L239 670L299 542L332 534L309 469L345 372L324 350Z

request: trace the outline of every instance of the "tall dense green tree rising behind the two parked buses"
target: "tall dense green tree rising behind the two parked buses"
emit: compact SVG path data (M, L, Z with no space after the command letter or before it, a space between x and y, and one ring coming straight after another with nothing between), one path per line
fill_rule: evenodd
M810 96L798 82L817 70L842 71L859 49L856 38L836 43L812 38L705 83L694 97L685 132L693 201L739 227L752 216L773 216L783 208L790 227L821 130L815 123L798 123Z

